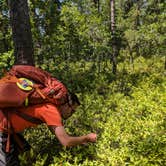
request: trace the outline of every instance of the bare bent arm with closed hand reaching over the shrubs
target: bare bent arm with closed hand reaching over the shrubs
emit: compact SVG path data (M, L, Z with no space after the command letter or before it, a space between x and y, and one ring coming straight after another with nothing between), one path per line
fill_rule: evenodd
M90 133L79 137L69 136L63 126L50 126L50 129L56 135L60 143L65 147L86 144L88 142L96 142L97 139L97 135L95 133Z

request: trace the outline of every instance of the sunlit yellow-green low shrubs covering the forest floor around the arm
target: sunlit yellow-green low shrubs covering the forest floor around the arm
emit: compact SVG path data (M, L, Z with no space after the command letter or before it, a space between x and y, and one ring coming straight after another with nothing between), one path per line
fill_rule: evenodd
M33 149L20 156L21 165L165 165L166 77L162 65L160 60L153 63L139 58L134 71L123 68L116 79L107 72L99 77L86 71L81 80L74 80L86 85L83 90L75 87L82 105L64 124L71 135L96 132L97 143L63 148L42 125L24 133ZM79 73L73 71L72 77Z

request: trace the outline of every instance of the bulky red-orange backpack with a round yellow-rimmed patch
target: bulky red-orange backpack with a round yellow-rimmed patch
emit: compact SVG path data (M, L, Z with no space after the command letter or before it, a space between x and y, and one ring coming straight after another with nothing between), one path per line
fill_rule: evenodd
M67 88L48 72L34 66L16 65L0 80L0 108L51 102L64 104Z

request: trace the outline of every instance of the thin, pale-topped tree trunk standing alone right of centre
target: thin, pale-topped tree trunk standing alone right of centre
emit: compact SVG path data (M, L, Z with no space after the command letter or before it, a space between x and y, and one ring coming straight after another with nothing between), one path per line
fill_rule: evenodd
M112 61L112 73L116 74L117 70L117 46L116 46L116 35L115 35L115 1L110 0L110 30L112 33L112 55L111 55L111 61Z

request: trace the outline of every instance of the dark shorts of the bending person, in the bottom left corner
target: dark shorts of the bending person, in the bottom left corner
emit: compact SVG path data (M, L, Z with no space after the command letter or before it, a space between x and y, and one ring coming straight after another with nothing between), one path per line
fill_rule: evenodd
M0 132L0 166L20 166L18 160L18 151L13 138L10 140L10 152L6 150L7 134Z

